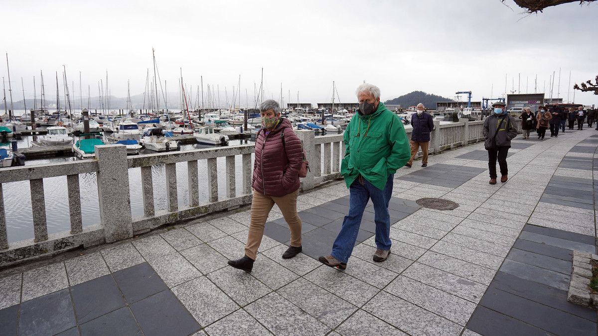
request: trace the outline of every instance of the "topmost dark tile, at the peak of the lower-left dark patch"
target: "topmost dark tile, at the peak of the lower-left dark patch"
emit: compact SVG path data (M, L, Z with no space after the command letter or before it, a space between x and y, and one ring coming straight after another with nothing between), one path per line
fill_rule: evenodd
M168 289L168 286L147 262L125 268L112 273L112 275L129 303L135 303Z

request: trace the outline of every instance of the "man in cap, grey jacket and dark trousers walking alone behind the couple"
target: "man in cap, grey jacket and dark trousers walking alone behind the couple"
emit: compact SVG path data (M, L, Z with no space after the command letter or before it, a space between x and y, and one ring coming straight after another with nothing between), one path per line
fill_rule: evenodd
M490 169L490 184L496 184L496 159L501 167L501 182L508 179L507 154L511 148L511 140L517 136L515 120L507 113L504 102L492 104L493 112L484 120L484 138L488 151L488 168Z

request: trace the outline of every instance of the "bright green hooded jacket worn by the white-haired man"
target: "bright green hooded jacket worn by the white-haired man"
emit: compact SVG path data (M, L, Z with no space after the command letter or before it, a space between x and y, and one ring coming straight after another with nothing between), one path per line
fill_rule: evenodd
M388 176L411 158L403 123L382 102L371 115L353 115L343 140L340 173L347 188L361 174L376 188L384 190Z

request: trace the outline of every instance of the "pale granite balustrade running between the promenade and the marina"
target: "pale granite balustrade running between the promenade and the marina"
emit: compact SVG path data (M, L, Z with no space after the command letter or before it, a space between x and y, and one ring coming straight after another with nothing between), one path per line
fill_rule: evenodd
M482 121L440 125L435 121L431 152L440 152L483 139ZM520 127L520 122L517 127ZM407 129L410 136L411 129ZM343 135L315 136L310 130L298 130L310 170L301 179L301 190L311 190L328 181L340 179L340 163L344 156ZM176 151L166 154L144 154L127 157L123 145L96 146L93 160L68 163L39 164L0 170L0 267L16 264L43 255L73 248L89 248L145 233L161 225L197 218L222 210L232 210L251 203L251 179L254 145ZM236 187L236 157L241 158L242 183ZM217 158L224 157L224 170ZM206 160L208 200L200 202L198 162ZM187 176L177 176L176 164L187 163ZM154 185L152 166L164 166L166 185ZM141 190L144 213L132 216L129 174L130 168L141 168ZM79 174L96 173L100 222L83 226ZM180 174L179 174L180 175ZM218 194L218 176L224 175L226 197ZM66 176L71 230L48 234L44 178ZM184 179L188 185L188 204L179 207L177 185ZM8 243L2 184L29 181L33 216L33 239ZM154 188L166 190L167 209L154 207ZM202 190L203 191L203 190ZM51 209L50 209L51 210Z

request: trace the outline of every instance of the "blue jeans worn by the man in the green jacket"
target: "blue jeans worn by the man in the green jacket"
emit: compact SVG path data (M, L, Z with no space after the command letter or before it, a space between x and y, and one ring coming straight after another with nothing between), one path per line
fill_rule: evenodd
M363 179L364 184L356 179L349 188L349 214L344 216L343 227L338 233L332 246L331 255L338 261L346 263L353 252L353 246L359 233L359 225L364 215L365 207L370 198L374 203L374 222L376 222L376 246L379 249L389 250L390 245L390 215L388 203L392 196L394 174L388 177L386 187L380 190L373 184Z

